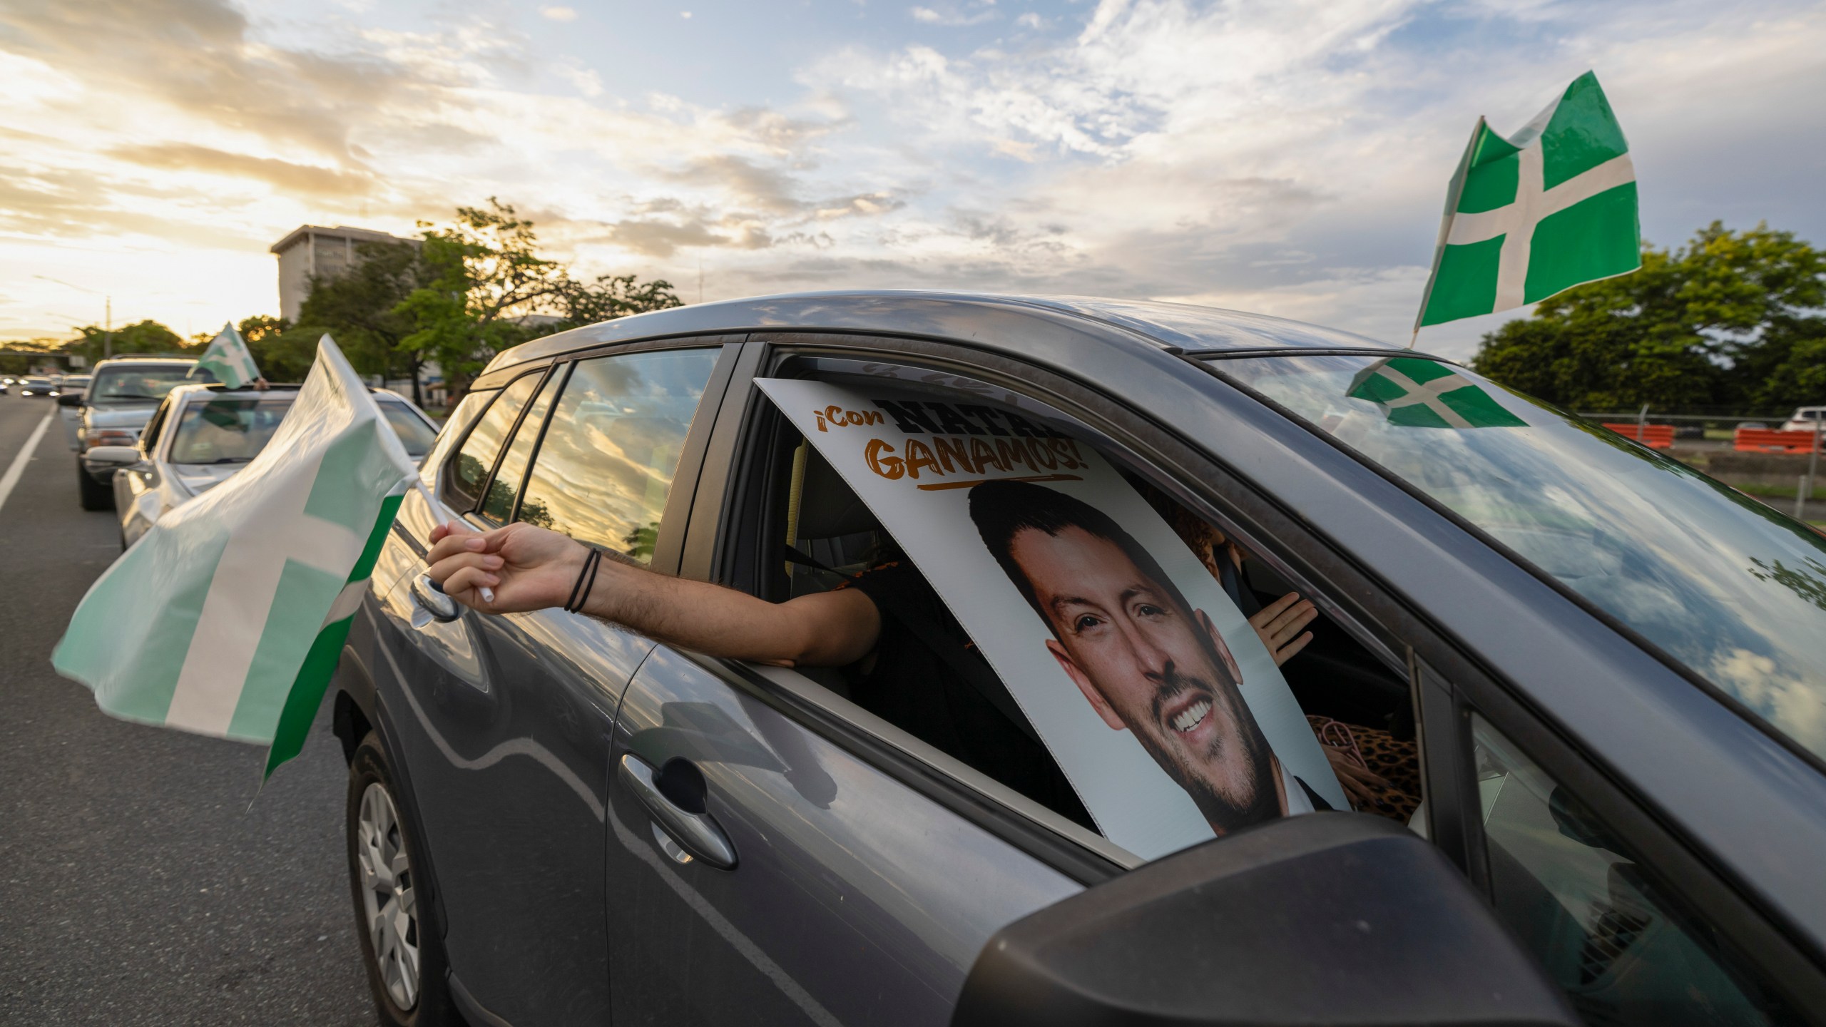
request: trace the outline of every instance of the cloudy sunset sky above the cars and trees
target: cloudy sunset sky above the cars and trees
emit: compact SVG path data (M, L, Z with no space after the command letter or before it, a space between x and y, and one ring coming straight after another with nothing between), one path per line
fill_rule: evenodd
M1649 241L1826 243L1817 2L0 0L0 340L276 314L298 225L495 196L687 302L1094 294L1406 342L1470 128L1587 69Z

